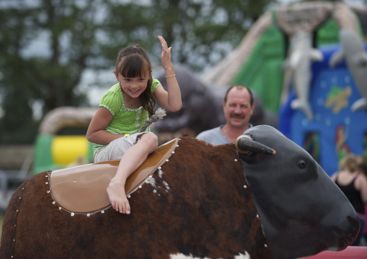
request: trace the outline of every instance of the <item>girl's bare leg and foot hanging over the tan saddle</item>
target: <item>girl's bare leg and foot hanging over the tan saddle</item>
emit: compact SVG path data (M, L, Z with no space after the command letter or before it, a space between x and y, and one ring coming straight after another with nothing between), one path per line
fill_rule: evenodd
M145 161L150 153L156 150L157 146L157 136L153 133L145 133L140 137L138 143L127 149L122 156L116 175L107 188L108 197L116 211L130 214L130 205L125 193L126 179Z

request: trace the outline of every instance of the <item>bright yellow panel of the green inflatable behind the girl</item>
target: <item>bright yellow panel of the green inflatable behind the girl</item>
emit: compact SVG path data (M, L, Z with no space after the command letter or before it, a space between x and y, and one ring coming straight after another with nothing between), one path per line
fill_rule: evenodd
M52 159L55 164L65 166L88 156L86 136L55 136L51 143Z

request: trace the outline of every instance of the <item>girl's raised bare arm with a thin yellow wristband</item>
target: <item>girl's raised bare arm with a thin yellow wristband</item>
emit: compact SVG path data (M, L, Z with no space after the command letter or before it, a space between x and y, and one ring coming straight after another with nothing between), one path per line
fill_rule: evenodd
M167 91L164 90L163 86L158 86L157 89L153 92L154 97L158 101L158 103L165 109L169 111L178 111L182 107L181 101L181 91L178 86L178 82L176 77L170 77L175 74L173 69L173 65L171 62L171 48L167 46L167 42L164 40L162 36L158 36L159 41L162 45L162 67L166 73L167 80Z

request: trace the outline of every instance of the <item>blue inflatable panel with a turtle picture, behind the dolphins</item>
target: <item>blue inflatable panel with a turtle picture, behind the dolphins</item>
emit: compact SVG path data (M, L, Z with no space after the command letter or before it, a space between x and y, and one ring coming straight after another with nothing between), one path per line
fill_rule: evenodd
M339 159L346 153L362 155L366 148L367 112L350 109L361 98L359 90L345 61L335 68L328 66L330 56L339 48L339 45L319 48L324 60L312 65L309 103L313 119L308 120L303 112L291 109L294 92L290 92L279 114L280 131L309 151L328 175L338 170Z

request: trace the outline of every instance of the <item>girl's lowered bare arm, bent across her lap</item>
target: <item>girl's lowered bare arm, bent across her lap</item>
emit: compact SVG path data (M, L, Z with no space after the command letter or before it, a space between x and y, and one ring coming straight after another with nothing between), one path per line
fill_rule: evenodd
M125 134L112 134L105 131L112 118L113 115L109 110L102 106L99 107L89 124L87 140L91 143L108 145L111 141L125 136Z

